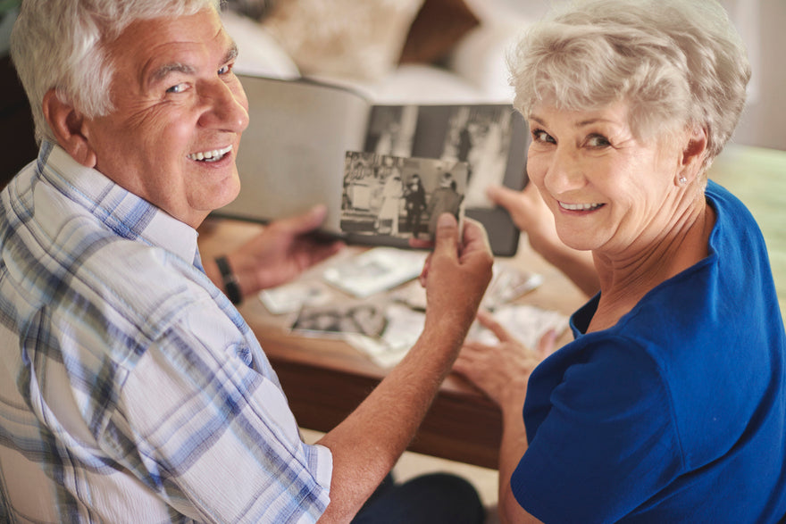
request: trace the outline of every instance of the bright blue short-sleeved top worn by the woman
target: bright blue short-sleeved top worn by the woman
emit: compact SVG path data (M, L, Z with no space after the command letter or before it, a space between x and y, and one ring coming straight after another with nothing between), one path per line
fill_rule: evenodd
M786 515L786 334L765 242L710 182L709 255L532 373L511 487L545 522L776 522Z

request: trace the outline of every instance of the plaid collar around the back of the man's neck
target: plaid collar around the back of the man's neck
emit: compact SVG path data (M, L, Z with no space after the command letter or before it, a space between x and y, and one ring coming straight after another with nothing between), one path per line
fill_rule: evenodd
M187 262L198 261L197 230L76 162L62 147L44 142L41 175L117 235L162 247Z

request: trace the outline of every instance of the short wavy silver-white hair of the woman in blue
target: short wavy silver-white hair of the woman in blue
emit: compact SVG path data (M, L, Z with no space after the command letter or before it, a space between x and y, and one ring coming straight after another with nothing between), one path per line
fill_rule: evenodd
M707 167L737 126L750 65L715 0L587 0L531 27L508 57L514 105L631 104L640 138L705 129Z

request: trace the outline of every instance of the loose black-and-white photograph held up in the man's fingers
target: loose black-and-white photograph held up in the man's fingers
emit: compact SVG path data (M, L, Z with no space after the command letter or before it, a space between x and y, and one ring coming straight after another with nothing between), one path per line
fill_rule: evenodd
M441 213L462 219L467 172L457 160L347 152L341 231L431 239Z

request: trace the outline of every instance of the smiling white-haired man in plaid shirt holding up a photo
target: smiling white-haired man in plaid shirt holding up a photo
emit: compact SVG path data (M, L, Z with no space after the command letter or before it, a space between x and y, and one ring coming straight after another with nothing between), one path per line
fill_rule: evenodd
M238 195L248 119L217 9L22 4L12 56L41 147L0 194L0 520L351 520L474 318L491 255L479 226L460 237L446 216L422 275L422 337L347 420L302 442L254 334L208 278L219 268L197 252L197 226ZM232 254L233 294L331 254L302 235L323 213Z

